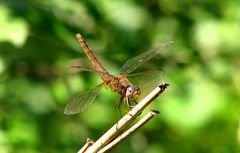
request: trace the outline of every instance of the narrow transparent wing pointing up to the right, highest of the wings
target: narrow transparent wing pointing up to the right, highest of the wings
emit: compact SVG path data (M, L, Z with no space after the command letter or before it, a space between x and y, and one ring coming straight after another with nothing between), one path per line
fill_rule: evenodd
M129 74L134 71L137 67L142 65L144 62L150 60L151 58L155 57L160 52L168 49L173 41L166 42L162 44L160 47L154 48L145 52L139 56L136 56L130 60L128 60L120 69L120 74Z

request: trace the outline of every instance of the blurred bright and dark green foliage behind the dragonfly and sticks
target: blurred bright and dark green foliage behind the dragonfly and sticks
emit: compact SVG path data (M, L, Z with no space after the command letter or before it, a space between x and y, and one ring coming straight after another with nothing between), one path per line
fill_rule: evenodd
M112 152L240 152L240 1L5 0L0 2L0 153L77 152L117 119L118 95L103 89L85 112L67 100L101 81L68 73L85 58L80 32L113 74L169 40L145 67L170 87L162 113Z

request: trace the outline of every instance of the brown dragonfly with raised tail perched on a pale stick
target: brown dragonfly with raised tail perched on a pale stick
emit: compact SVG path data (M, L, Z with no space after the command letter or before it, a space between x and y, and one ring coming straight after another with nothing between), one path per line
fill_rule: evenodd
M103 82L93 89L73 96L67 103L64 110L64 113L68 115L77 114L88 109L98 95L99 90L104 86L108 86L113 92L117 92L120 95L119 100L115 104L115 108L119 108L122 101L124 101L124 105L131 108L133 105L130 101L137 103L137 99L141 94L140 89L149 89L149 87L154 85L154 87L156 87L160 83L159 81L161 80L163 73L160 70L150 70L136 74L130 73L139 66L143 65L146 61L149 61L159 53L168 49L173 43L172 41L166 42L160 47L151 49L143 54L129 59L120 68L120 75L114 76L110 74L97 59L83 36L78 33L76 34L76 38L90 61L92 69L101 77Z

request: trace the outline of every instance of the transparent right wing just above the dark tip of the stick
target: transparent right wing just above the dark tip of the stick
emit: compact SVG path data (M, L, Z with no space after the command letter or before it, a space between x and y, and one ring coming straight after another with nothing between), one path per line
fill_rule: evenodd
M150 70L127 76L128 80L140 88L141 95L139 100L150 93L154 88L160 85L163 72L160 70Z

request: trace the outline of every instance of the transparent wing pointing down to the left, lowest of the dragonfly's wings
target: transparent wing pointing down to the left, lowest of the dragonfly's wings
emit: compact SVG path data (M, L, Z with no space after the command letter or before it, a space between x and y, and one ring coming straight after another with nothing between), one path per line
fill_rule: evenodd
M97 97L99 89L100 88L97 86L92 90L88 90L72 97L66 105L64 113L71 115L88 109L93 103L94 99Z

